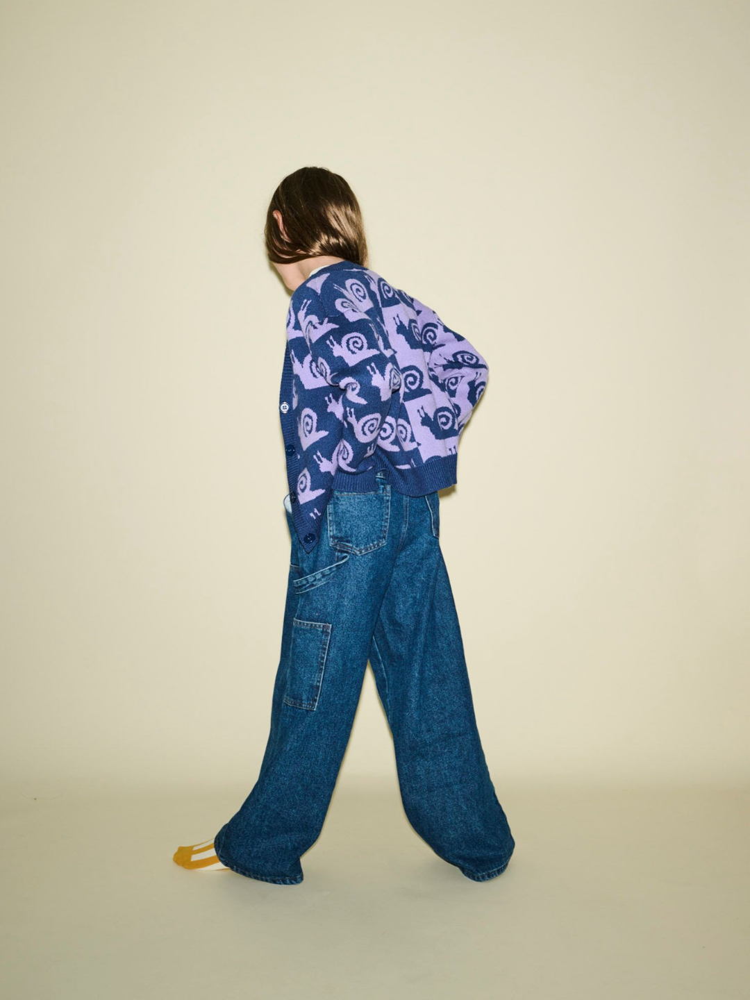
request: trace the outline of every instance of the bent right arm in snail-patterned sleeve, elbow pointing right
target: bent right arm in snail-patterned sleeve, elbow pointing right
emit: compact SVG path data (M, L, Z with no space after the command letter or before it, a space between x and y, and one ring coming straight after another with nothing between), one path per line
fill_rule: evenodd
M489 365L474 345L443 323L434 310L417 299L412 301L427 367L453 404L460 437L487 385Z

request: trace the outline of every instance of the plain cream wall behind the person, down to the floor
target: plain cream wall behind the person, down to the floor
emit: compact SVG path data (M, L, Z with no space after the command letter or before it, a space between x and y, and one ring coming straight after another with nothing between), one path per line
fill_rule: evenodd
M747 9L259 12L5 14L6 779L254 778L288 562L261 230L304 164L489 361L441 503L498 782L747 778ZM344 766L394 773L369 670Z

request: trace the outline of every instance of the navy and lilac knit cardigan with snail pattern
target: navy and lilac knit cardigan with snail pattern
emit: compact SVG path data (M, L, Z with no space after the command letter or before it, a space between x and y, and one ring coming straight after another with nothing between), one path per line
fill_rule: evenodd
M466 337L350 260L294 290L286 334L284 499L305 552L334 490L375 491L377 474L406 496L457 482L458 444L489 371Z

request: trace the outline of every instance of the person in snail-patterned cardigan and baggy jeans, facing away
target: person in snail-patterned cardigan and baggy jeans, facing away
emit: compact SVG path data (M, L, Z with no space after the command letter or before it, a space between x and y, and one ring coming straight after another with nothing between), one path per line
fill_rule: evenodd
M241 807L174 860L302 881L369 661L409 822L462 874L493 879L515 841L477 730L439 499L457 481L487 362L368 266L360 207L340 175L285 177L265 240L292 292L279 395L291 549L270 732Z

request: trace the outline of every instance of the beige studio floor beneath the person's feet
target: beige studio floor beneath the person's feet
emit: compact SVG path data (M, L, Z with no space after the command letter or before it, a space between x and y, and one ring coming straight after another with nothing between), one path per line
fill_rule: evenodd
M172 861L248 789L85 791L0 798L3 1000L750 996L746 788L498 787L477 883L342 775L296 886Z

